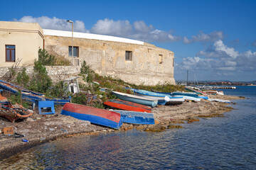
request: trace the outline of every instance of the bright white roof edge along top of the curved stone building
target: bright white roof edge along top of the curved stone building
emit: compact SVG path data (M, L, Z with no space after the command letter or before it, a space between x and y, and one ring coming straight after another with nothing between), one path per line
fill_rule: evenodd
M43 29L43 35L53 35L53 36L61 36L61 37L72 37L71 31L66 30L48 30ZM91 34L91 33L73 33L74 38L85 38L85 39L92 39L92 40L106 40L106 41L114 41L114 42L125 42L137 45L144 45L143 41L139 40L132 40L128 38L119 38L110 35L98 35L98 34Z

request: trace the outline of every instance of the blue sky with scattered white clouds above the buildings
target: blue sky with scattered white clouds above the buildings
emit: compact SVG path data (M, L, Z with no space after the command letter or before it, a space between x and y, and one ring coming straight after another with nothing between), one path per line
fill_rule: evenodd
M174 78L256 80L256 1L1 1L0 21L142 40L175 54Z

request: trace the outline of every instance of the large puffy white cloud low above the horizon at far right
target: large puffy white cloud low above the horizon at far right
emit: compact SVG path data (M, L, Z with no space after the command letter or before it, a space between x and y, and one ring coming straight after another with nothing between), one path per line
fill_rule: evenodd
M196 57L186 57L176 69L206 70L211 72L252 72L256 70L256 52L235 51L222 40L217 40L208 50L198 52Z

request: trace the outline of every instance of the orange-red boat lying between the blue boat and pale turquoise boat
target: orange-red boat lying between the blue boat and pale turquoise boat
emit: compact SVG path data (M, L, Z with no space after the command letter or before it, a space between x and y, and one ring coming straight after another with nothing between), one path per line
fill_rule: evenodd
M112 108L119 108L125 111L137 111L137 112L147 112L151 113L151 108L149 106L144 106L138 103L132 103L129 101L122 101L119 99L112 99L110 101L105 101L105 105Z

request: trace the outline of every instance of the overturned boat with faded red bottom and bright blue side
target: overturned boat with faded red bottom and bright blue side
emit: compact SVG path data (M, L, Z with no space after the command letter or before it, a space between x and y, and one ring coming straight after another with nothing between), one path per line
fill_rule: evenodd
M61 114L70 115L80 120L88 120L91 123L114 129L119 129L122 125L120 113L75 103L65 103Z

